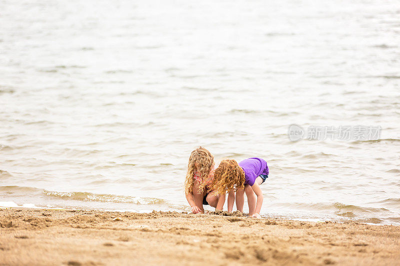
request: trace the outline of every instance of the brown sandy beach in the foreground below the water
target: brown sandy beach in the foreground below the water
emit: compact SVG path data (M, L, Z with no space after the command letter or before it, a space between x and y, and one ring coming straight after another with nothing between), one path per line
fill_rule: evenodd
M397 226L233 215L0 209L0 265L400 265Z

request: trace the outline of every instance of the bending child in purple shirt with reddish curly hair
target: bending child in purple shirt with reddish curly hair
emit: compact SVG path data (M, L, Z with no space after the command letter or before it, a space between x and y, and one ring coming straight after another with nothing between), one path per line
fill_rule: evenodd
M243 212L246 193L248 216L261 218L259 212L264 198L259 185L264 183L268 174L266 161L261 158L249 158L239 163L235 160L223 160L215 169L213 188L220 195L228 192L228 212L232 211L235 198L236 209Z

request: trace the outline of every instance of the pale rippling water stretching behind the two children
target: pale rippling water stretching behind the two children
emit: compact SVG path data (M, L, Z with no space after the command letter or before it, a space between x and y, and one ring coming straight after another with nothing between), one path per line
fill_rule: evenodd
M268 162L264 217L400 225L399 84L398 0L3 0L0 206L189 211L202 145Z

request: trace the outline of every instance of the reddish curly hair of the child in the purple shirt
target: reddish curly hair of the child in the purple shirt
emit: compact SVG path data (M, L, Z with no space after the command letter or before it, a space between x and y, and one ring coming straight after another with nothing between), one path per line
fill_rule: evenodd
M243 169L235 160L227 159L215 169L212 188L215 193L224 195L230 190L236 192L237 189L244 189L245 181Z

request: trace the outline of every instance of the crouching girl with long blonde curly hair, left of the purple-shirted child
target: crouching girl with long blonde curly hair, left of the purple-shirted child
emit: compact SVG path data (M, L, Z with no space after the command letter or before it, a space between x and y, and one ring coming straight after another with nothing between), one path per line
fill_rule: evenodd
M186 200L194 214L204 213L203 205L222 210L225 195L211 189L214 173L214 157L201 146L190 153L184 182Z

